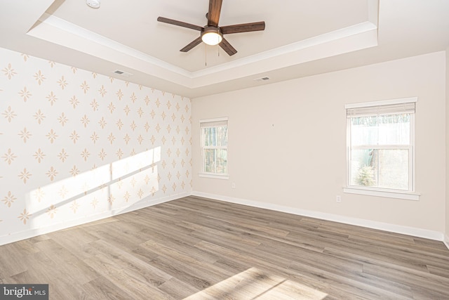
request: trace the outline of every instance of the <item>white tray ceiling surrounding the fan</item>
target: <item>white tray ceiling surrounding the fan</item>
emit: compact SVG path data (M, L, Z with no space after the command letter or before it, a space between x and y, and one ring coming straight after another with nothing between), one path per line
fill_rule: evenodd
M234 56L182 53L199 32L156 21L203 26L207 11L208 0L2 0L0 46L191 98L449 47L448 0L223 0L220 26L266 23L225 36Z

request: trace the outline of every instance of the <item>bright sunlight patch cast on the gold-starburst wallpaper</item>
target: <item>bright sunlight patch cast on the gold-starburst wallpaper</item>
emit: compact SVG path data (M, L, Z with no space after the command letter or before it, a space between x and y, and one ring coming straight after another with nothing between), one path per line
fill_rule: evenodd
M32 190L22 221L37 229L107 211L120 214L159 190L160 161L157 147Z

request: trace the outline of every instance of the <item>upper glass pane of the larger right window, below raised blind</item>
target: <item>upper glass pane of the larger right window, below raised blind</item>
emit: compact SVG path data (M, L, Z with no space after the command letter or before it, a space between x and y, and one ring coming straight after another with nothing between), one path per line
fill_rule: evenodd
M409 145L410 114L351 118L351 145Z

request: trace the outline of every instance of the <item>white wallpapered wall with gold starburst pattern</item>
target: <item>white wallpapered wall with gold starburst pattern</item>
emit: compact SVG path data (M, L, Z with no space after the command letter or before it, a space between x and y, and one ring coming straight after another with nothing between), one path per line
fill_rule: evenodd
M0 239L189 194L190 109L0 48Z

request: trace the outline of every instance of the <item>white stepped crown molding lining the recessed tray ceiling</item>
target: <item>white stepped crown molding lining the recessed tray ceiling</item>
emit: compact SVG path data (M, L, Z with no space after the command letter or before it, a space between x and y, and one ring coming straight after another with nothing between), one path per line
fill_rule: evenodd
M371 13L371 15L373 14ZM366 21L264 51L254 56L208 67L205 70L189 72L53 15L45 13L39 20L40 23L29 30L27 34L123 65L130 70L171 81L189 89L377 45L377 25ZM373 34L373 32L376 34Z

